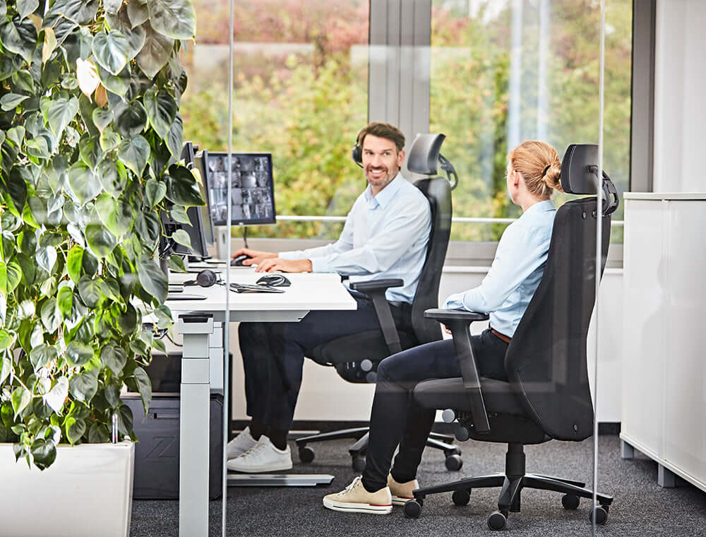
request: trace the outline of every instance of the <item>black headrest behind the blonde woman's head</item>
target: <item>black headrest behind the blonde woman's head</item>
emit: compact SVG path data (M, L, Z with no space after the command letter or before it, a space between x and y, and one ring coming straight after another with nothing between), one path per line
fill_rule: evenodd
M618 192L611 178L598 174L598 146L594 143L573 143L566 148L561 162L561 188L567 194L596 194L603 191L603 214L609 215L618 208Z

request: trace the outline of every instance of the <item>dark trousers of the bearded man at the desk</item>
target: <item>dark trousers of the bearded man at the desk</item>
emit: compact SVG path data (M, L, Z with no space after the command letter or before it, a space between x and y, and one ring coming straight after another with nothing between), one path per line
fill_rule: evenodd
M274 429L289 430L299 396L304 357L311 355L307 351L333 339L380 329L373 302L355 291L351 295L358 309L313 311L299 322L240 324L246 411L253 420ZM390 305L390 309L398 329L411 324L411 306Z

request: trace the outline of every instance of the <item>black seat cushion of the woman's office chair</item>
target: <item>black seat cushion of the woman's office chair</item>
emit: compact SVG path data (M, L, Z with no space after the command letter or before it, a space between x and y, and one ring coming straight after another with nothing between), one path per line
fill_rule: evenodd
M509 382L481 377L481 392L486 412L529 417L510 389ZM417 402L425 408L471 410L461 377L420 382L414 388L414 399L417 399Z

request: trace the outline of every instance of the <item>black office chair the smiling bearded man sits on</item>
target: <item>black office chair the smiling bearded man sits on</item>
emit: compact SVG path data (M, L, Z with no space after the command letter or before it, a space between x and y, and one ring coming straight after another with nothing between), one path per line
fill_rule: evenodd
M385 290L401 286L402 280L352 283L350 285L352 289L365 293L373 300L381 329L328 341L306 353L309 358L321 365L335 367L338 374L348 382L373 384L376 382L378 363L384 358L402 349L441 339L440 326L433 319L426 319L424 311L438 306L439 280L451 228L450 190L457 182L453 166L439 153L444 138L443 134L418 134L409 149L407 158L407 168L411 172L433 176L436 175L436 167L439 163L449 179L451 175L454 177L453 184L443 177L429 177L414 183L429 200L431 233L424 267L421 269L417 292L412 302L412 331L402 329L398 331L390 312L390 305L385 300ZM357 427L301 437L297 439L299 459L302 462L313 461L315 456L313 449L306 445L311 442L353 438L356 442L348 450L352 457L352 466L355 471L363 471L364 455L368 447L368 430L369 427ZM460 449L450 442L453 442L452 436L432 432L426 445L443 450L446 468L458 470L463 464Z

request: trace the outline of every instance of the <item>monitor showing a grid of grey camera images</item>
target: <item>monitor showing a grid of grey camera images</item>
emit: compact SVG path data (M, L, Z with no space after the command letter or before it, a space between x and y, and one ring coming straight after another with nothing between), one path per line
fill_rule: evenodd
M228 153L208 153L208 193L214 225L275 223L275 186L270 153L231 153L231 199L228 200Z

